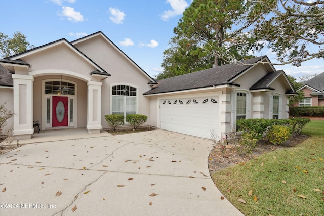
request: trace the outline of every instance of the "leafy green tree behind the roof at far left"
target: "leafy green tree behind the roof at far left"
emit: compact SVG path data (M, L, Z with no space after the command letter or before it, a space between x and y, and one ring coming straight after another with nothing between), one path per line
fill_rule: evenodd
M6 58L26 50L32 49L35 46L30 45L26 40L26 36L17 31L12 38L9 38L4 33L0 32L0 57Z

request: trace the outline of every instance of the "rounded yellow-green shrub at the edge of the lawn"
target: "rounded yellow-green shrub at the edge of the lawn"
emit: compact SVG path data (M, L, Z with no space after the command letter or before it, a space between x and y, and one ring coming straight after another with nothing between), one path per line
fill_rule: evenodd
M273 145L282 144L291 135L291 128L282 125L273 125L267 133L269 142Z

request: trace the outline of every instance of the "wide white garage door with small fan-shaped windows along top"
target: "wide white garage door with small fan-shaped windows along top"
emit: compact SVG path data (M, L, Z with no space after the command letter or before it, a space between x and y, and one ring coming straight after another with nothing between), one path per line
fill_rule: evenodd
M163 99L160 121L161 129L210 139L218 132L219 97Z

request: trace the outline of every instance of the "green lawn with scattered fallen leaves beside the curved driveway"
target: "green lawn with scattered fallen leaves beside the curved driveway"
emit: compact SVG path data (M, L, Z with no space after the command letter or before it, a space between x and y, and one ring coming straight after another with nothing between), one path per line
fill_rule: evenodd
M245 215L324 215L324 121L303 134L296 147L215 172L216 186Z

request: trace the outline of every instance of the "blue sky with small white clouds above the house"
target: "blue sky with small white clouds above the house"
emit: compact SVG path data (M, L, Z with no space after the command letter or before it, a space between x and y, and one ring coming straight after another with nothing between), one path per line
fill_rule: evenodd
M22 32L36 47L66 38L69 41L102 31L126 55L154 77L161 72L163 51L174 36L182 13L191 0L11 0L2 1L0 32L12 37ZM269 50L254 54L275 56ZM301 67L279 66L298 78L324 72L314 59Z

